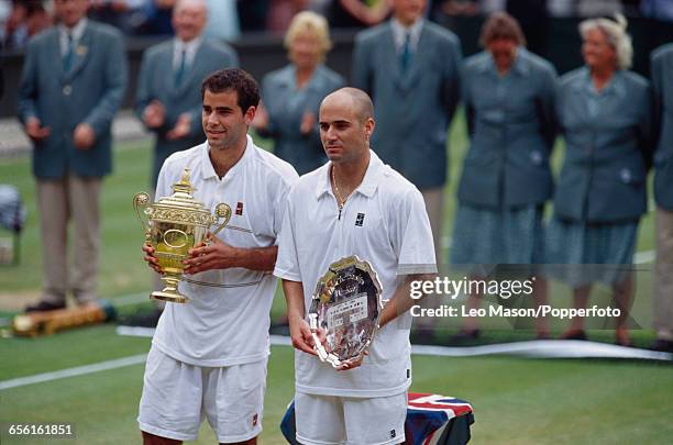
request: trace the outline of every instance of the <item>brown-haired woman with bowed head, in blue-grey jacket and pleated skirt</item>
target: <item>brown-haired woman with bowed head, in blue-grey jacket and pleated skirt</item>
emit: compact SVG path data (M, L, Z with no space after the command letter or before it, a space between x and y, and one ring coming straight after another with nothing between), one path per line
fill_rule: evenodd
M486 48L465 60L463 104L470 151L463 165L451 263L474 265L472 279L484 279L483 265L528 265L515 271L530 279L543 260L542 213L553 181L549 157L555 140L556 73L529 53L511 15L496 12L482 29ZM547 301L547 282L537 277L533 296ZM470 308L484 296L471 294ZM549 330L537 320L538 337ZM454 341L475 338L476 319L466 319Z

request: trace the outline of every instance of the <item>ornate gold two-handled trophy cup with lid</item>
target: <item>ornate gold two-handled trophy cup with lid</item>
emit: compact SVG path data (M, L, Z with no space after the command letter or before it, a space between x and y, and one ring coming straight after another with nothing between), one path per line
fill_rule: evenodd
M214 215L211 215L209 209L194 199L194 190L189 182L189 169L185 168L180 181L173 185L170 197L153 204L150 204L150 194L145 192L133 197L135 213L145 229L145 240L154 247L154 256L164 272L162 280L166 285L163 290L152 292L150 298L174 303L187 302L189 298L177 289L185 269L183 260L189 256L190 248L203 242L212 224L224 219L212 232L214 236L231 218L231 208L224 203L218 204ZM143 213L146 218L143 218Z

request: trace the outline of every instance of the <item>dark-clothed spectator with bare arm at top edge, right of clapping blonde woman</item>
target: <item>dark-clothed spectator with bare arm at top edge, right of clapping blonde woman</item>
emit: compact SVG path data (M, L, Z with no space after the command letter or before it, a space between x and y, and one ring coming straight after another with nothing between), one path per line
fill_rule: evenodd
M391 2L393 0L332 0L330 23L334 27L345 29L374 26L386 20Z

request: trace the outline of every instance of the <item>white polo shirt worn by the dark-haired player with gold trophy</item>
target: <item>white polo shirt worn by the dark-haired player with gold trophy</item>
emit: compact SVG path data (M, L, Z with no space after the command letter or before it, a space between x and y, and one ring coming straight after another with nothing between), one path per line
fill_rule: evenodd
M256 147L250 136L241 159L220 179L203 143L174 153L158 176L156 196L170 196L185 168L194 198L211 213L220 202L232 209L231 221L217 236L234 247L277 245L287 192L297 173L286 162ZM211 227L214 230L214 226ZM180 282L190 298L166 303L152 343L167 355L197 366L231 366L257 361L269 354L269 310L276 278L244 268L209 270L187 278L222 287Z

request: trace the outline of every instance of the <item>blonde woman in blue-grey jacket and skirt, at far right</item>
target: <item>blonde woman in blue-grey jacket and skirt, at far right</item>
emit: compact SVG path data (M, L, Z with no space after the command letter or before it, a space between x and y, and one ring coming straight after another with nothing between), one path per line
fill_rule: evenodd
M633 294L633 248L647 210L647 173L653 148L648 81L629 71L631 38L626 19L581 23L585 66L563 76L558 119L565 160L554 197L545 251L550 264L567 265L560 277L585 308L592 283L613 287L616 343L630 345L627 327ZM573 267L574 265L574 267ZM573 319L563 338L584 340L584 320Z

